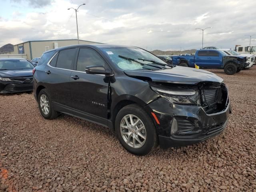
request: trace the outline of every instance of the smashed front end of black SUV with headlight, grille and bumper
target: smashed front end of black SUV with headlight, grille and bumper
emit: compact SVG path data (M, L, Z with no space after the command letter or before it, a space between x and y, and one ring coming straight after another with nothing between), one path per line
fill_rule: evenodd
M196 85L150 82L160 95L150 103L160 121L162 148L186 146L220 134L231 113L228 87L223 82Z

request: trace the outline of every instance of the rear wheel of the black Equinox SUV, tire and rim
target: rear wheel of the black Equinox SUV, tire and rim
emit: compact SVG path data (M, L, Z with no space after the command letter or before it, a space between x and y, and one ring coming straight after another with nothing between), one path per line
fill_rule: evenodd
M50 94L46 89L42 89L38 94L38 107L45 119L54 119L59 115L59 113L54 110Z

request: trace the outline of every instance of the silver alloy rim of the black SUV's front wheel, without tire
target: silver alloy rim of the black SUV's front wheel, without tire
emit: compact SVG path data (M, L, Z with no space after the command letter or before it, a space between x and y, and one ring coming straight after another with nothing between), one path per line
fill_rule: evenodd
M124 142L132 148L140 148L146 142L146 128L135 115L128 114L122 118L120 132Z

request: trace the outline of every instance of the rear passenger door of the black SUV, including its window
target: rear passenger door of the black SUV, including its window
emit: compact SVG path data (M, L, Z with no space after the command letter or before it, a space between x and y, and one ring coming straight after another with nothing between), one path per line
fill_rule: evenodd
M55 54L46 65L46 86L52 100L64 106L71 106L70 74L77 48L64 49Z

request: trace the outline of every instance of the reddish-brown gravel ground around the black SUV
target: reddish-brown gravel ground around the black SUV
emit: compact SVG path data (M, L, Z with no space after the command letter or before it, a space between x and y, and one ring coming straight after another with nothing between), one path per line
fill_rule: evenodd
M219 136L134 156L107 128L45 120L32 93L0 96L0 192L254 191L256 66L224 78L233 113Z

